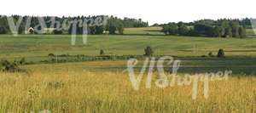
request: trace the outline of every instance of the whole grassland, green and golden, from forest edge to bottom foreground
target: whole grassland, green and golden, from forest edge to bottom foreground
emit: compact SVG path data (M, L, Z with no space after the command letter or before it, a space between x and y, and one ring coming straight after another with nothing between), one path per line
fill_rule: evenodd
M252 31L247 33L253 36ZM87 45L81 38L71 46L68 35L0 35L0 59L35 62L20 66L25 72L0 72L0 112L256 112L254 38L164 36L160 27L127 28L123 36L90 35ZM146 89L146 74L135 91L124 72L126 59L38 64L52 59L48 54L96 56L104 49L112 56L143 55L147 46L154 55L180 59L179 75L226 70L233 75L227 81L210 82L208 99L203 98L200 82L197 99L192 99L192 85L157 88L152 82L152 88ZM219 48L225 58L207 56L216 55ZM142 67L140 59L136 72ZM153 81L158 76L154 71Z

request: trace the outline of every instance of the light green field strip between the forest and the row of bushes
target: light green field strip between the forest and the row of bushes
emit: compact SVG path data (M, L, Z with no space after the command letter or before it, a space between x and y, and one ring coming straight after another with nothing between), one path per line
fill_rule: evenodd
M154 54L176 56L201 56L217 53L224 48L227 56L253 56L256 52L253 38L209 38L172 36L89 36L88 44L82 45L81 36L77 45L71 46L70 36L0 36L1 58L44 57L53 54L98 55L100 49L107 54L144 54L144 48L151 46Z

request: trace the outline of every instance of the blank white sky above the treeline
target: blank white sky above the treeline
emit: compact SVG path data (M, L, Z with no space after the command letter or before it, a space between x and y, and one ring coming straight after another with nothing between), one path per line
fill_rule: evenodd
M154 23L256 18L255 0L3 0L0 14L114 15Z

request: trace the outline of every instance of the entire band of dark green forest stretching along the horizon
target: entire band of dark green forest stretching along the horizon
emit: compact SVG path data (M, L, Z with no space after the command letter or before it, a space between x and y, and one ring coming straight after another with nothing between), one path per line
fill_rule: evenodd
M37 31L29 28L35 28L37 25L40 25L37 16L19 16L19 15L12 15L14 22L18 23L20 21L20 27L17 30L19 34L38 34ZM104 19L107 18L105 25L90 25L91 20L100 18ZM148 22L144 22L141 19L130 19L124 18L119 19L114 16L104 16L104 15L97 15L97 16L77 16L77 17L54 17L54 16L45 16L41 17L44 19L45 27L50 28L52 34L72 34L73 27L75 28L76 34L83 34L83 28L79 26L80 23L86 22L88 23L87 26L87 33L88 34L124 34L124 30L127 27L148 27ZM30 20L31 24L29 26L26 25L27 20ZM52 20L54 19L54 21ZM82 20L78 23L71 23L68 24L69 27L67 29L62 29L63 23L66 25L66 20L73 21L73 20ZM58 21L61 24L56 24L55 21ZM92 22L92 24L94 24ZM90 24L89 24L90 23ZM196 20L194 22L170 22L168 24L154 24L153 26L160 26L162 27L162 32L166 35L177 35L177 36L191 36L191 37L239 37L244 38L246 37L246 29L250 29L251 21L248 18L242 20L230 20L230 19L222 19L222 20ZM60 29L61 28L61 29ZM0 15L0 34L10 34L11 30L9 28L9 22L7 20L7 16ZM47 34L47 33L46 33Z

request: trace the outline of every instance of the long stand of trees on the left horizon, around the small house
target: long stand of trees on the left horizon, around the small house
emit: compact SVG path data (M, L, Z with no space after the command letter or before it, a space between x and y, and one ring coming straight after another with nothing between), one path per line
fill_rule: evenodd
M19 16L19 15L12 15L13 19L15 22L17 22L19 20L19 18L22 18L22 21L20 23L20 27L18 29L18 33L19 34L23 34L25 33L25 31L27 30L27 26L26 26L26 22L28 20L28 18L30 18L30 22L31 25L30 27L34 28L37 25L40 25L40 22L38 20L38 17L35 16ZM61 25L63 25L62 23L66 22L67 20L73 21L73 20L82 20L79 22L84 22L84 20L87 20L88 22L88 26L87 26L87 33L88 34L102 34L103 31L108 31L109 34L123 34L124 32L124 28L125 27L146 27L148 26L148 22L143 22L143 20L139 19L129 19L129 18L125 18L125 19L119 19L117 17L113 17L113 16L104 16L104 15L98 15L98 16L77 16L77 17L52 17L52 16L45 16L42 17L45 20L45 24L47 28L59 28L61 27ZM55 19L55 21L57 21L60 24L53 23L52 19ZM96 18L102 18L102 20L107 20L106 24L104 25L91 25L91 20L96 20ZM60 29L56 29L53 31L53 33L55 34L62 34L63 31L67 31L69 34L72 33L72 29L73 27L76 27L76 33L77 34L82 34L83 33L83 27L81 27L79 24L79 22L77 23L73 23L70 25L68 30L60 30ZM4 15L0 15L0 34L7 34L10 33L10 29L9 29L9 24L8 24L8 20L7 20L7 16ZM37 33L37 32L35 32Z

